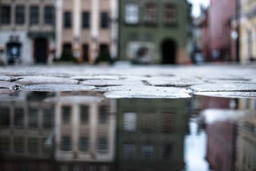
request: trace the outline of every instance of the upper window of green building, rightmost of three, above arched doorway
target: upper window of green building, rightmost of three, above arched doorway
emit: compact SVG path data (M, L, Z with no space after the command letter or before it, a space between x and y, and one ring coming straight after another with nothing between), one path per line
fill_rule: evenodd
M166 25L177 24L177 7L173 4L166 4L164 9L164 23Z

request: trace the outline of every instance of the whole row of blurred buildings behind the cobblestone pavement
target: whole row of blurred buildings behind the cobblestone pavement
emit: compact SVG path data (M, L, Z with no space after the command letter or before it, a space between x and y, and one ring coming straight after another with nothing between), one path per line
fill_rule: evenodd
M256 2L0 0L1 63L248 63Z

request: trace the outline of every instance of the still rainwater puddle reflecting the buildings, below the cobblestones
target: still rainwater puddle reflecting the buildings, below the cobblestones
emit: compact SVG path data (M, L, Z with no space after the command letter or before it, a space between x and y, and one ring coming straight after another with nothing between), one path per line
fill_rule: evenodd
M255 99L0 95L0 170L255 170Z

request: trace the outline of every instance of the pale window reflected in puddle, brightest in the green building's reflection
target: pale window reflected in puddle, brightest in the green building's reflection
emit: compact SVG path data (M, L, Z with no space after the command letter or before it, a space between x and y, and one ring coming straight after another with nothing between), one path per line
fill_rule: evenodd
M124 130L129 132L136 131L136 114L135 113L124 114Z

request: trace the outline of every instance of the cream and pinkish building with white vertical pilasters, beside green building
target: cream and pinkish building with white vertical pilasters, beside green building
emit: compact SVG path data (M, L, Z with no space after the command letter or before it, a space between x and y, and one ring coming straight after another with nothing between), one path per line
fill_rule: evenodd
M116 0L57 0L56 56L67 52L80 62L93 63L109 52L115 59L117 8Z

